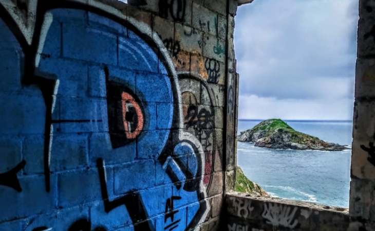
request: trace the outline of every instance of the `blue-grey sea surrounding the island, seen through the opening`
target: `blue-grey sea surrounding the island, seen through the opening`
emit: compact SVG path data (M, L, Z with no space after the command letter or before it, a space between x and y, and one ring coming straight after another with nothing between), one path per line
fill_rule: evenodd
M238 134L262 120L238 120ZM288 121L299 132L340 145L352 141L352 121ZM238 142L237 165L272 197L349 207L351 150L279 150Z

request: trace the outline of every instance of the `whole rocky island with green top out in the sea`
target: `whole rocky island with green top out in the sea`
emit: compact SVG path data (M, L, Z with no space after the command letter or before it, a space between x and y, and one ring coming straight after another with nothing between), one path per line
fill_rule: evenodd
M281 119L264 120L254 128L237 136L240 142L255 143L257 147L272 149L342 151L346 146L328 143L317 137L295 131Z

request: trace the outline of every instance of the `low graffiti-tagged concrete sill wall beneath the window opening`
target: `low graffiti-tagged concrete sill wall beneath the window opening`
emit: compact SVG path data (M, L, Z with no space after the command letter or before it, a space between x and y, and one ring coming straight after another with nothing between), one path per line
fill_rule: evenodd
M347 230L347 208L228 193L228 231Z

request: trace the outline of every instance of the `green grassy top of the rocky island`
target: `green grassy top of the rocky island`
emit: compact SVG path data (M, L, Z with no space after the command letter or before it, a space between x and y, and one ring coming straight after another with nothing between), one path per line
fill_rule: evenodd
M265 125L265 121L270 121L271 123L269 125ZM316 141L319 139L315 136L307 135L302 132L295 131L292 127L290 127L286 122L284 122L281 119L268 119L263 122L258 123L254 128L251 130L253 132L257 132L259 130L266 130L267 135L270 136L272 133L274 133L276 130L279 130L279 132L283 133L290 133L291 134L291 141L293 143L302 143L303 141L309 141L312 144L315 144Z

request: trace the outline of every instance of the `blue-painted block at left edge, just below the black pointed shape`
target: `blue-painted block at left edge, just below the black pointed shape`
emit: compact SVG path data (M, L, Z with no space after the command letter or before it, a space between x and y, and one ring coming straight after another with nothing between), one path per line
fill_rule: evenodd
M0 222L27 217L55 208L56 178L51 175L51 191L46 192L43 175L18 177L22 192L0 187L0 204L7 209L0 209ZM27 196L26 196L27 195Z

